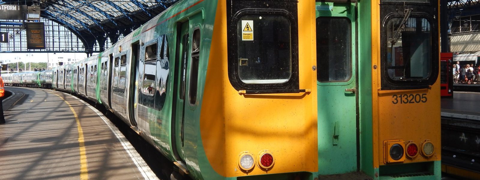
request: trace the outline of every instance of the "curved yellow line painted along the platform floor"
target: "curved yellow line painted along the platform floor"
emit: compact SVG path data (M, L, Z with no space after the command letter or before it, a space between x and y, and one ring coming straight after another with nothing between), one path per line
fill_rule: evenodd
M51 93L51 92L48 92ZM73 109L72 105L68 103L63 97L60 95L57 95L55 93L55 96L59 96L60 99L65 101L67 103L68 107L70 107L70 110L73 113L73 116L75 116L75 121L77 122L77 130L78 130L78 144L80 148L80 180L88 180L88 166L87 166L87 156L86 156L86 151L85 151L85 143L84 143L84 132L82 130L82 126L80 125L80 120L78 119L77 113Z

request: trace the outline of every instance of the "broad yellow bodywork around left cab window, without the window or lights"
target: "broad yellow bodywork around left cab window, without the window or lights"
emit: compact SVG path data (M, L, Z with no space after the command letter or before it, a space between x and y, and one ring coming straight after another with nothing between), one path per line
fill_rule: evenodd
M314 2L299 2L300 89L316 92ZM219 1L200 117L210 165L225 177L318 170L316 93L240 95L228 80L226 4ZM268 150L272 168L238 168L240 153ZM257 160L257 159L255 159Z

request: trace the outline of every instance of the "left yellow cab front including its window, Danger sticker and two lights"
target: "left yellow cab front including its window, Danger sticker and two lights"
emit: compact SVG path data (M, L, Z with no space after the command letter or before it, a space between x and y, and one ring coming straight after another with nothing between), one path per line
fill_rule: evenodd
M174 95L180 113L184 109L175 120L184 118L185 130L197 122L200 128L198 134L185 131L185 146L178 139L177 151L187 160L192 159L187 152L204 153L199 160L209 165L200 164L201 179L313 180L318 170L313 2L219 0L213 32L201 28L203 34L195 36L200 19L194 17L179 28L178 39L201 38L200 49L210 48L197 54L188 43L187 72L196 72L191 61L199 60L199 75L187 77L184 87L183 72L173 77L175 88L185 88L184 102ZM202 82L199 96L196 78ZM192 121L194 116L200 119ZM191 149L192 141L202 146Z

